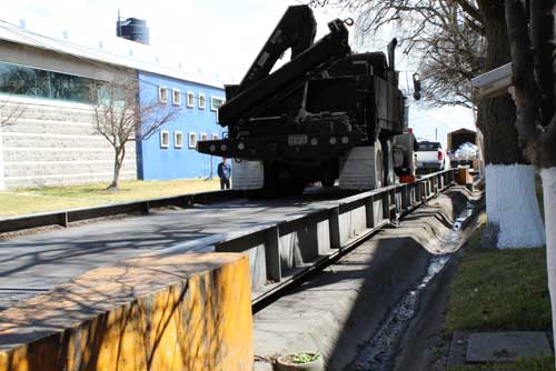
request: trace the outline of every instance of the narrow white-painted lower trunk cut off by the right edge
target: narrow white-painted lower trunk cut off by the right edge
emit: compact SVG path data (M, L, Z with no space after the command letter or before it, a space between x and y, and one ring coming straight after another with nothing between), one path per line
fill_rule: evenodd
M543 198L546 220L546 265L553 310L554 344L556 344L556 168L543 169Z

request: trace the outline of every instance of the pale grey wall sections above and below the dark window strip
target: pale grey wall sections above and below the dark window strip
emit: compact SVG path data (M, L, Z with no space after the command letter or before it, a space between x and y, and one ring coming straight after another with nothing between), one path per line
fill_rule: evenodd
M0 61L92 79L115 76L107 64L7 41L0 41ZM22 114L0 131L0 189L111 180L112 149L95 132L91 107L0 94L0 116L13 104ZM137 179L135 149L127 146L121 179Z

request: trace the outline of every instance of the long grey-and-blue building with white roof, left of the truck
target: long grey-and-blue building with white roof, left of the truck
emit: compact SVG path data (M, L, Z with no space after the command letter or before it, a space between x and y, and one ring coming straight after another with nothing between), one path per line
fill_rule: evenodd
M90 88L115 79L138 79L140 103L178 110L148 139L126 144L121 179L216 177L220 158L196 151L198 140L226 131L217 123L225 92L215 77L121 38L88 47L0 24L0 116L21 112L0 126L0 190L110 181L113 149L96 131Z

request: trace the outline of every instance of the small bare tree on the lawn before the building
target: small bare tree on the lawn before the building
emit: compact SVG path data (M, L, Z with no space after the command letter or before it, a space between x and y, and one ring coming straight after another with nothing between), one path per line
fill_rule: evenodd
M139 99L141 98L141 99ZM95 129L113 149L113 178L109 190L118 190L126 144L149 139L165 123L176 119L176 107L140 91L135 78L117 78L91 88Z

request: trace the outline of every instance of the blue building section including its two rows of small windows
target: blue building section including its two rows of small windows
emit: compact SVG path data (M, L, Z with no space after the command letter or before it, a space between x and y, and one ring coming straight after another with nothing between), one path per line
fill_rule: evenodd
M216 177L220 158L197 152L196 144L198 140L222 138L225 129L217 123L217 110L225 100L224 90L143 71L138 71L138 79L141 103L157 100L167 109L177 110L172 122L137 142L139 179Z

